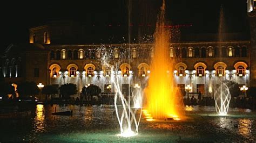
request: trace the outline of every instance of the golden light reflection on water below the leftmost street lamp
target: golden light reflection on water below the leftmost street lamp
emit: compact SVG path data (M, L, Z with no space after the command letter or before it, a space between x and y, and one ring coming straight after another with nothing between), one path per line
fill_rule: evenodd
M33 127L36 133L45 130L44 105L36 105L36 116L33 120Z

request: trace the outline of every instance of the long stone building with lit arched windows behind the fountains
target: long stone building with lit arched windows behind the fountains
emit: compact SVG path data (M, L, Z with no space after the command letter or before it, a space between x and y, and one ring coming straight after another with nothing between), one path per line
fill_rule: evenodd
M95 84L102 92L113 92L112 73L103 65L105 60L116 65L124 93L138 81L146 86L153 44L79 44L77 40L87 38L85 31L70 23L31 28L29 44L10 45L1 56L5 82L34 81L56 88L73 83L78 91ZM66 44L69 42L75 44ZM172 72L182 91L190 85L190 92L213 96L220 80L247 87L255 84L253 52L250 40L235 39L171 43L168 54L176 60Z

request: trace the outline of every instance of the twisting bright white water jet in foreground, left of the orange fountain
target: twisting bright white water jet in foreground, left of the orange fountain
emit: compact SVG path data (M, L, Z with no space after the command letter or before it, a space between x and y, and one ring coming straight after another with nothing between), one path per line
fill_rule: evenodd
M103 45L103 48L107 51L105 45ZM114 88L114 108L116 109L116 115L120 126L120 134L118 134L118 136L131 137L138 134L140 118L142 117L142 97L139 96L142 94L136 95L132 92L132 98L130 98L130 94L127 99L125 98L120 88L119 79L122 77L120 77L121 75L118 72L118 64L115 63L116 66L111 65L111 63L109 63L110 57L111 54L105 52L102 55L102 63L105 68L111 69L110 78L111 84L113 85L112 87ZM142 92L142 89L140 88L136 90L137 93ZM130 103L138 103L139 108L131 108ZM118 104L120 106L118 106ZM140 112L138 119L136 118L137 111Z

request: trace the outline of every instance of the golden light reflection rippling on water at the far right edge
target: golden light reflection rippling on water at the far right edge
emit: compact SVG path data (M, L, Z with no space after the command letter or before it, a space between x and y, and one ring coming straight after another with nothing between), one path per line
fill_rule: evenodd
M244 137L250 137L252 134L253 120L251 119L239 119L238 132Z

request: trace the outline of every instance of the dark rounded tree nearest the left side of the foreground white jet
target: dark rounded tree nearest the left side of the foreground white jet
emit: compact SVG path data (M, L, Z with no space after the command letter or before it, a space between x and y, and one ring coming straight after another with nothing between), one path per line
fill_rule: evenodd
M102 90L97 85L90 85L89 87L83 87L82 94L86 97L90 97L92 100L93 96L99 96Z

